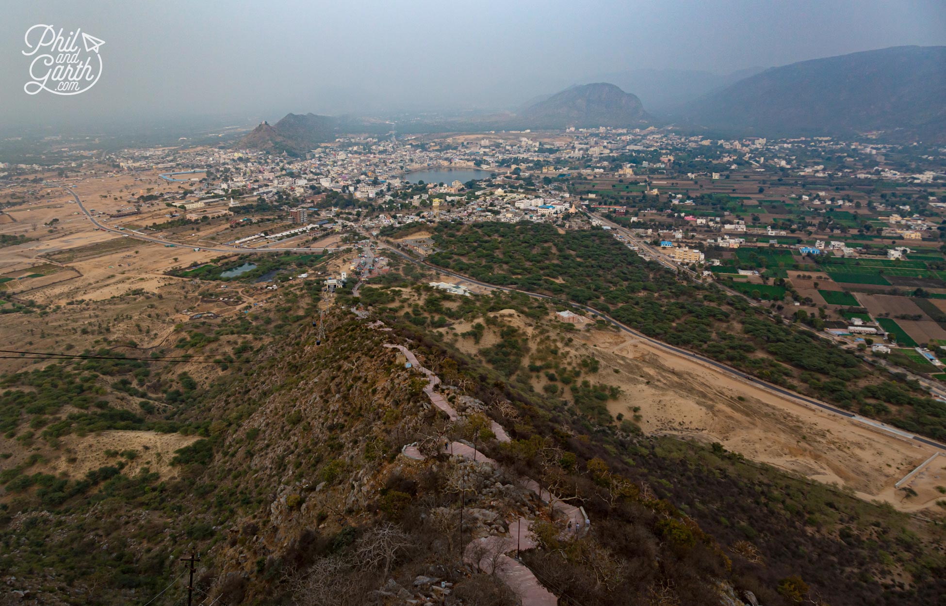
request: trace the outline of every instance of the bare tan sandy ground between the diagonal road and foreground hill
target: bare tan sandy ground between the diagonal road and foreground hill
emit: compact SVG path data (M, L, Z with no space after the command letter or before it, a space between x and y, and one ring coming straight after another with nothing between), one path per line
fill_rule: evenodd
M533 320L514 310L492 315L516 326L534 342L538 325ZM549 320L552 325L555 321ZM468 329L463 323L454 326L455 333ZM560 347L563 352L572 358L594 355L600 360L601 368L588 376L590 380L622 389L619 399L609 401L610 412L630 419L634 407L639 407L639 424L648 434L720 442L747 459L836 483L866 500L885 501L901 511L939 511L936 501L944 495L937 486L946 486L946 456L907 484L916 496L906 497L894 488L936 452L930 446L803 405L610 329L566 335L574 341ZM461 338L456 344L474 354L497 340L494 331L487 331L479 345L471 338Z

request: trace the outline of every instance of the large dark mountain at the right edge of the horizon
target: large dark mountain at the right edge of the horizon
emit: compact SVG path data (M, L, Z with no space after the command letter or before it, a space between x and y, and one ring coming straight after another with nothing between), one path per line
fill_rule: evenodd
M946 142L946 46L897 46L765 70L689 103L678 118L734 134Z

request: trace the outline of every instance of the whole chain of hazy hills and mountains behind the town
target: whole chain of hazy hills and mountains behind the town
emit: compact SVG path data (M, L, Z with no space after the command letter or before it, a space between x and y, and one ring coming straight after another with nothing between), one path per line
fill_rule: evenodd
M720 136L850 136L881 131L888 140L946 142L946 46L898 46L755 71L746 70L751 74L747 78L661 114L659 122ZM624 77L636 75L638 81L646 81L645 72L625 72ZM652 78L651 85L666 80L665 72L652 74L657 79ZM696 78L687 90L705 89L739 75ZM685 79L676 78L676 86L684 86ZM343 132L636 128L656 121L637 95L597 82L534 97L515 113L418 116L398 118L396 124L289 113L274 125L260 124L237 147L298 155Z

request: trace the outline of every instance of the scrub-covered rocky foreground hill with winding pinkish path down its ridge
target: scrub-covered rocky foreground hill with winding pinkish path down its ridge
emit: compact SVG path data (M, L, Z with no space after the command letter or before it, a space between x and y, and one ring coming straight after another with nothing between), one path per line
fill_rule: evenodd
M530 346L497 312L539 322L551 303L455 298L392 267L359 298L339 292L320 346L307 320L318 287L297 281L245 318L191 325L182 351L219 355L209 368L96 362L112 378L94 390L85 362L4 377L0 452L22 461L0 476L4 598L180 603L191 550L208 604L836 606L942 589L935 528L722 449L645 438L593 412L608 387L590 362L556 370L568 397L509 378ZM427 328L461 319L469 334L452 339L482 339L479 355ZM568 342L558 326L542 324L544 353ZM232 335L238 347L217 349ZM133 471L70 473L70 431L140 426L94 400L134 386L160 405L142 408L150 428L199 438L174 453L175 473L143 466L159 459L149 450L115 453L145 459ZM41 407L60 393L80 394L79 411ZM46 457L61 474L37 472Z

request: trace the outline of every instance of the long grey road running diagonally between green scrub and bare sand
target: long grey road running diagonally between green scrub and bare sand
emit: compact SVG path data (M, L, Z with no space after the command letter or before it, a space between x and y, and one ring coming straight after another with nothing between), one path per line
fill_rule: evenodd
M637 337L637 338L641 338L641 339L646 340L647 342L649 342L649 343L655 345L656 347L658 347L658 348L660 348L660 349L663 349L663 350L669 351L669 352L673 352L674 354L677 354L677 355L684 355L684 356L690 357L690 358L692 358L692 359L694 359L694 360L698 360L698 361L702 362L703 364L710 365L710 366L712 366L712 367L718 369L718 370L721 371L721 372L726 372L727 374L729 374L729 375L731 375L731 376L734 376L734 377L736 377L736 378L738 378L738 379L740 379L740 380L742 380L742 381L745 381L745 382L747 382L747 383L750 383L750 384L752 384L752 385L755 385L756 387L762 388L763 390L769 390L769 391L772 391L772 392L774 392L774 393L778 393L778 394L780 394L780 395L783 395L783 396L792 398L792 399L794 399L794 400L800 401L800 402L802 402L802 403L804 403L804 404L807 404L807 405L809 405L809 406L818 407L818 408L821 408L821 409L823 409L823 410L827 410L827 411L829 411L829 412L832 412L832 413L834 413L834 414L837 414L837 415L840 415L840 416L843 416L843 417L847 417L848 419L850 419L850 420L852 420L852 421L856 421L856 422L861 423L861 424L866 424L866 425L868 425L868 426L870 426L870 427L872 427L872 428L874 428L874 429L878 429L878 430L880 430L880 431L883 431L883 432L885 432L885 433L887 433L887 434L896 436L896 437L898 437L898 438L906 438L906 439L909 439L909 440L914 440L914 441L916 441L916 442L921 442L921 443L923 443L923 444L926 444L927 446L932 446L932 447L934 447L934 448L938 448L938 449L940 449L940 450L946 452L946 444L943 444L943 443L940 443L940 442L936 442L936 441L930 440L930 439L928 439L928 438L923 438L922 436L917 436L917 435L914 435L914 434L911 434L911 433L902 431L902 430L900 430L900 429L896 429L896 428L894 428L894 427L889 427L889 426L887 426L887 425L885 425L885 424L882 424L882 423L879 423L879 422L877 422L877 421L873 421L873 420L871 420L871 419L867 419L866 417L862 417L862 416L860 416L860 415L857 415L857 414L848 412L847 410L844 410L843 408L834 407L834 406L832 406L832 405L830 405L830 404L826 404L826 403L821 402L821 401L819 401L819 400L815 400L815 399L813 399L813 398L809 398L808 396L801 395L800 393L797 393L797 392L795 392L795 391L786 390L786 389L784 389L784 388L780 388L780 387L777 386L777 385L773 385L773 384L771 384L771 383L768 383L767 381L763 381L762 379L756 378L756 377L754 377L754 376L752 376L752 375L750 375L750 374L746 374L745 372L742 372L742 371L736 370L736 369L734 369L734 368L732 368L732 367L730 367L730 366L727 366L726 364L723 364L722 362L717 362L716 360L710 359L709 357L705 357L705 356L703 356L703 355L694 354L693 352L687 351L687 350L685 350L685 349L681 349L681 348L679 348L679 347L675 347L674 345L670 345L670 344L664 343L663 341L659 341L659 340L657 340L656 338L650 338L650 337L648 337L648 336L646 336L646 335L644 335L644 334L642 334L642 333L639 333L638 331L634 330L633 328L630 328L629 326L623 324L622 322L620 322L620 321L618 321L618 320L614 320L614 319L611 318L610 316L604 314L604 312L601 312L601 311L599 311L599 310L597 310L597 309L594 309L593 307L590 307L590 306L588 306L588 305L583 305L583 304L581 304L581 303L573 303L573 302L569 302L569 301L563 301L562 299L559 299L559 298L557 298L557 297L552 297L552 296L549 296L549 295L543 295L543 294L539 294L539 293L536 293L536 292L530 292L530 291L528 291L528 290L520 290L520 289L518 289L518 288L511 288L511 287L509 287L509 286L497 286L497 285L492 285L492 284L488 284L488 283L485 283L485 282L481 282L481 281L475 280L475 279L473 279L473 278L471 278L471 277L469 277L469 276L465 276L465 275L456 273L456 272L454 272L454 271L450 271L449 269L440 268L440 267L437 267L437 266L434 266L434 265L430 265L430 264L427 263L426 261L418 261L417 259L413 258L411 255L408 255L408 254L406 254L406 253L404 253L404 252L402 252L402 251L398 251L398 250L395 249L393 246L390 246L390 245L388 245L387 243L384 243L384 244L382 244L382 245L383 245L385 248L387 248L388 250L393 251L393 252L396 253L396 254L399 254L400 256L404 257L405 259L408 259L408 260L411 261L412 263L416 263L416 264L418 264L418 265L423 265L423 266L426 267L426 268L434 269L434 270L436 270L436 271L439 271L440 273L445 273L445 274L447 274L447 275L449 275L449 276L453 276L454 278L458 278L458 279L461 279L461 280L465 280L465 281L467 281L467 282L471 282L471 283L476 284L476 285L479 285L479 286L484 286L484 287L486 287L486 288L493 288L493 289L505 290L505 291L508 291L508 292L520 292L520 293L522 293L522 294L524 294L524 295L528 295L528 296L530 296L530 297L534 297L535 299L546 299L546 300L549 300L549 301L556 301L556 302L560 302L560 303L569 303L570 305L573 305L573 306L575 306L575 307L579 307L579 308L581 308L581 309L584 309L584 310L587 311L588 313L590 313L590 314L592 314L592 315L594 315L594 316L597 316L598 318L601 318L601 319L604 320L604 321L608 321L608 322L614 324L619 330L622 330L623 332L628 333L629 335L633 335L634 337Z

